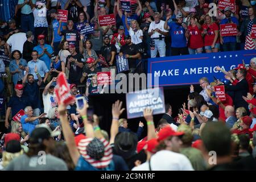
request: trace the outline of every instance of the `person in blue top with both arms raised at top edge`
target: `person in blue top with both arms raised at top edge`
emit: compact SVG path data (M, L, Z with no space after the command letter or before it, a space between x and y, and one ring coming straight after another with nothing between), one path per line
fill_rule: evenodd
M141 2L139 0L137 0L137 3L139 5L139 9L137 11L136 14L132 15L131 13L127 13L127 24L130 25L130 22L132 19L137 20L139 18L139 16L141 16L141 11L142 11L142 6L141 6ZM117 1L117 13L120 16L120 18L122 19L123 25L125 25L125 15L122 13L122 10L120 9L120 1ZM129 35L129 30L125 27L125 35Z

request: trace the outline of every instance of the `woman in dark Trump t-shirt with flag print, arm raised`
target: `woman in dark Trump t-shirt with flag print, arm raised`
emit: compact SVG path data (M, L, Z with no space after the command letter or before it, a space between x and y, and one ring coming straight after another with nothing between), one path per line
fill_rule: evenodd
M60 22L58 28L58 34L64 36L64 40L68 41L68 44L74 44L76 47L76 51L79 51L79 32L74 30L74 23L72 20L68 20L68 29L60 31L62 26L62 22Z

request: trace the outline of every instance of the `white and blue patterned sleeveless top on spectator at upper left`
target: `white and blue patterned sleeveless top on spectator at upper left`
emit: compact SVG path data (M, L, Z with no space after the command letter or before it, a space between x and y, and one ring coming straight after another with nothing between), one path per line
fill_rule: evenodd
M34 27L48 27L47 19L46 19L46 14L47 14L47 9L44 6L42 9L36 9L34 8L33 10L34 14Z

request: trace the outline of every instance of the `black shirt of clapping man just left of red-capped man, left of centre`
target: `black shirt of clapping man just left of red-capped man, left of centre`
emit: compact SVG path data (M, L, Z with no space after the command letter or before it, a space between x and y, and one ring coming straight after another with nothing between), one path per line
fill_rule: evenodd
M66 65L68 65L68 59L70 57L73 57L73 59L76 59L79 63L84 63L84 56L82 56L80 53L77 53L75 56L69 55L66 60ZM69 81L70 84L75 84L76 82L80 81L80 78L82 77L82 68L80 68L77 64L74 62L69 63L70 69L69 69Z

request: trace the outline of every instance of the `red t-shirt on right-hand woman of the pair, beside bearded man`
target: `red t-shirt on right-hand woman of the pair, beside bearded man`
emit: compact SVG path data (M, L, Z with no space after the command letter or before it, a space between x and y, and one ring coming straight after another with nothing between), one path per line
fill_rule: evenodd
M210 24L209 27L207 24L203 24L202 28L203 28L203 30L204 29L207 30L207 34L204 36L204 46L212 46L212 43L213 43L213 40L215 37L214 31L219 30L217 24L212 23L212 24ZM219 38L217 39L216 43L220 43Z

